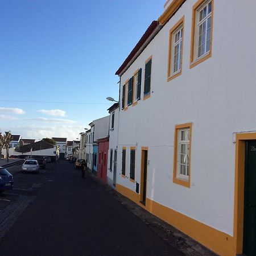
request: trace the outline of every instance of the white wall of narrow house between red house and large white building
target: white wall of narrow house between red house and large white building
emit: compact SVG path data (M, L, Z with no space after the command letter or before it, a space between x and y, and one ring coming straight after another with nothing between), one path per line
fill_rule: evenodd
M118 147L118 130L119 130L119 108L113 110L114 114L114 129L109 130L109 151L108 151L108 184L111 185L113 188L113 175L114 175L114 150ZM111 127L112 124L112 113L110 113L109 118L109 127ZM112 170L110 170L110 149L113 149L113 158L112 158ZM119 175L118 169L117 169L117 176Z

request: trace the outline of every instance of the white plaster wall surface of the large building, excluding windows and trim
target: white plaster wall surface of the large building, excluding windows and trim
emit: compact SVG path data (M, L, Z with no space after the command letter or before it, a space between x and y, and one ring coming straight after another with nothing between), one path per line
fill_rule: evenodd
M212 57L189 69L192 6L186 1L122 75L121 86L152 55L151 97L120 112L118 174L122 146L129 181L130 146L137 146L135 181L141 183L141 147L148 146L147 197L233 235L234 131L256 130L256 1L214 1ZM185 15L182 75L167 82L169 30ZM122 93L122 90L121 90ZM122 95L120 96L120 102ZM172 182L174 128L192 122L191 188Z

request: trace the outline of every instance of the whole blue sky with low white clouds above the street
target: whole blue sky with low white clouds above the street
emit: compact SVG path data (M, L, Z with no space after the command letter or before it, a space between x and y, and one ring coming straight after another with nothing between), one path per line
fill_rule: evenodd
M165 2L1 0L0 131L80 138L118 100L115 71Z

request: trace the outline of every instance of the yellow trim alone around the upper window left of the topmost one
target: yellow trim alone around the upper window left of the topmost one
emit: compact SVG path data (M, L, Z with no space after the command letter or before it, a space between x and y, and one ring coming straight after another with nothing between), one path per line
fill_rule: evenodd
M182 59L183 59L183 39L184 39L184 20L185 16L183 16L171 29L169 32L169 53L168 53L168 70L167 70L167 82L171 81L172 79L175 79L175 77L180 76L182 73ZM172 57L172 34L174 31L180 27L183 26L183 33L182 33L182 44L181 44L181 68L180 71L174 75L171 76L171 57Z

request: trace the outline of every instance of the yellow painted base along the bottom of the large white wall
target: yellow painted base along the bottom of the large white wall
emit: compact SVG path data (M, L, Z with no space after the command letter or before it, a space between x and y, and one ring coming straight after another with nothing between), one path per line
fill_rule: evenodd
M150 199L146 199L145 207L139 202L140 197L138 193L120 184L117 184L117 191L215 253L223 256L236 255L236 242L234 237Z

